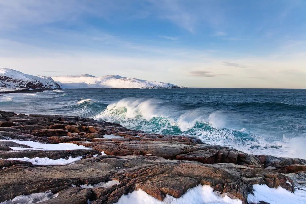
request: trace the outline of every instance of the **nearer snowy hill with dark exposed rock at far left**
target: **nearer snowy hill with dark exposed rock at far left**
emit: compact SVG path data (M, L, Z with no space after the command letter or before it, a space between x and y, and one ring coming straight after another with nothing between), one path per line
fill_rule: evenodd
M60 86L48 76L33 76L13 69L0 68L0 92L58 89Z

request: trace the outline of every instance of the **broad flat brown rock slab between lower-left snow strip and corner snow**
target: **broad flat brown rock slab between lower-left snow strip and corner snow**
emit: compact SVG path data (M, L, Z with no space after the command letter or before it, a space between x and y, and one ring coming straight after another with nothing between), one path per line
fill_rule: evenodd
M103 162L63 166L13 165L0 171L0 202L19 195L62 190L71 185L97 184L107 181L114 172L112 165Z

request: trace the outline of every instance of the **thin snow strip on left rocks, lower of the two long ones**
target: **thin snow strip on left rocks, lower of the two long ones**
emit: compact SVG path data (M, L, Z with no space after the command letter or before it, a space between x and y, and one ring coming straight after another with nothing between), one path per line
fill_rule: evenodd
M50 159L47 157L35 157L35 158L8 158L7 160L20 160L20 161L29 161L33 165L66 165L75 161L79 161L82 156L72 158L71 156L68 159Z

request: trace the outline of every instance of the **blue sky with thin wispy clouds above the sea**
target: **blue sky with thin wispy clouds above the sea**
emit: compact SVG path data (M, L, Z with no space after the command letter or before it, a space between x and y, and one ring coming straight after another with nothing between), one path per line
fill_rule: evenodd
M306 88L306 1L0 0L0 67Z

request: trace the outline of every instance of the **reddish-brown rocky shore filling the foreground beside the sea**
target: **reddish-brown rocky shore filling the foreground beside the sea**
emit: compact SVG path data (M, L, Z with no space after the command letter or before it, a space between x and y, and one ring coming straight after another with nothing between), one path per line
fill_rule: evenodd
M110 204L137 189L163 200L166 195L179 198L201 184L247 203L253 184L291 192L306 186L304 159L246 154L190 136L148 134L82 117L0 111L0 139L0 202L51 191L58 196L40 203ZM87 148L37 150L4 140L73 143ZM67 165L18 160L46 157L80 159ZM110 180L118 182L95 185Z

